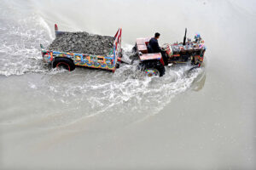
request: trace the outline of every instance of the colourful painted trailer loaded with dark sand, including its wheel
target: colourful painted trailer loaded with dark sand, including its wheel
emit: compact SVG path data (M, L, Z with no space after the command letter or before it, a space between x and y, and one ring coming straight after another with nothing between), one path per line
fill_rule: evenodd
M41 44L43 60L68 71L84 66L114 72L122 55L121 36L121 28L114 37L108 37L84 31L59 31L55 25L55 40L48 49Z

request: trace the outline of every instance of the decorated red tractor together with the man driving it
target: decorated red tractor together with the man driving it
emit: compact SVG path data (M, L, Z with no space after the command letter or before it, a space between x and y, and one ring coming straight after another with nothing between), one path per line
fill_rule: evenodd
M148 77L165 74L165 65L189 63L195 67L200 67L204 59L206 47L201 36L197 34L195 41L186 42L187 29L183 42L165 44L160 48L158 39L160 33L155 33L152 38L137 38L133 51L140 59L139 69L144 71Z

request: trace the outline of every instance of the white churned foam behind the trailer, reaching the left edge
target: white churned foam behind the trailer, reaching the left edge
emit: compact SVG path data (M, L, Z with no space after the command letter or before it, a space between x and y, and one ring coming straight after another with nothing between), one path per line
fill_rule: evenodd
M10 14L19 11L15 6L3 5L0 9L0 75L44 72L39 44L49 43L52 38L44 20L34 13Z

